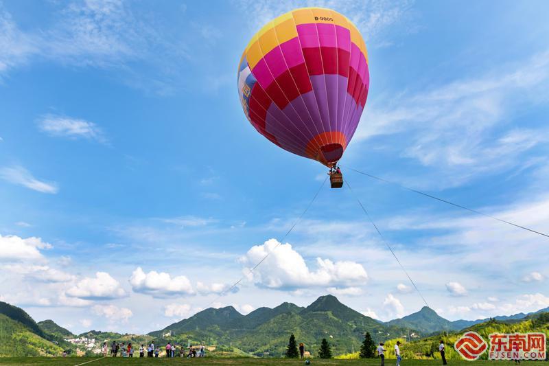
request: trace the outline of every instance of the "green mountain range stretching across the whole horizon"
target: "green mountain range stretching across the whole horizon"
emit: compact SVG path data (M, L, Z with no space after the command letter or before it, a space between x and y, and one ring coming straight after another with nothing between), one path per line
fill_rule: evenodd
M546 308L535 313L493 319L509 323L548 311L549 308ZM162 330L142 336L92 330L78 337L86 336L97 341L117 339L132 343L147 343L153 339L156 339L156 344L167 341L178 344L205 343L217 345L218 350L280 356L288 343L288 336L294 333L297 341L305 343L310 350L316 350L320 340L326 338L334 354L344 354L360 348L365 332L370 332L375 341L406 338L410 334L414 338L423 339L441 331L455 332L487 321L489 319L448 321L425 306L406 317L382 322L345 306L332 295L325 295L307 307L285 302L275 308L258 308L246 315L240 314L232 306L208 308ZM55 353L75 347L64 341L76 337L69 330L49 319L36 323L21 308L1 301L0 330L0 356L13 354L14 350L25 356Z

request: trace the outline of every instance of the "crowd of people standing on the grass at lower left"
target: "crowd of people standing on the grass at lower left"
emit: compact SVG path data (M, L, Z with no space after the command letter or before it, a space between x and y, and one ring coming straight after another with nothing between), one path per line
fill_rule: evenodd
M185 348L183 346L177 347L177 345L174 343L173 345L168 342L166 347L166 357L205 357L205 347L203 345L200 346L200 348L197 350L195 347L189 347L189 352L185 352ZM113 343L110 345L110 356L111 357L133 357L133 346L132 343L117 343L116 341L113 341ZM159 357L160 355L160 347L155 347L154 342L151 342L150 345L145 347L144 345L141 345L139 347L139 357L145 357L145 352L147 352L147 357ZM102 353L103 356L106 357L108 354L108 345L106 342L103 343L102 347Z

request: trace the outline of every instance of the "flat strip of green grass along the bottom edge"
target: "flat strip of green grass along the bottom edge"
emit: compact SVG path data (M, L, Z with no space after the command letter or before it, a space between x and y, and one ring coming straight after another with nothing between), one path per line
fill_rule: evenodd
M91 361L91 362L89 362ZM452 361L449 366L487 366L494 361ZM535 361L522 362L522 365ZM302 360L284 358L86 358L86 357L5 357L0 358L0 365L60 365L60 366L103 366L103 365L305 365ZM379 359L369 360L322 360L314 358L311 365L367 365L379 366ZM394 360L386 361L386 366L394 366ZM437 360L402 360L401 366L440 366ZM498 366L515 365L513 361L498 361ZM539 365L539 363L538 363ZM543 364L541 364L543 365Z

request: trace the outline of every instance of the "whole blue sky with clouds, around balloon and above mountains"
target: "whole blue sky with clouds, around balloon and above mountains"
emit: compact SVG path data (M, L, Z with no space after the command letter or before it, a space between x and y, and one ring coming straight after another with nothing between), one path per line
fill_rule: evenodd
M250 126L236 69L304 5L360 29L371 90L341 163L449 319L549 306L546 1L0 2L0 299L74 332L150 332L333 293L378 319L423 301L349 190ZM288 242L288 245L285 243Z

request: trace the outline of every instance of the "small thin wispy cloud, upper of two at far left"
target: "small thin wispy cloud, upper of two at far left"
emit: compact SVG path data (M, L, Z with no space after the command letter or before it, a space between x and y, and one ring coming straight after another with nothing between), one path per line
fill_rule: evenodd
M38 120L38 127L51 136L69 137L77 139L93 139L106 142L103 131L93 122L65 117L61 115L45 115Z

